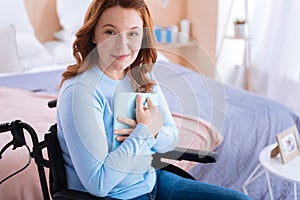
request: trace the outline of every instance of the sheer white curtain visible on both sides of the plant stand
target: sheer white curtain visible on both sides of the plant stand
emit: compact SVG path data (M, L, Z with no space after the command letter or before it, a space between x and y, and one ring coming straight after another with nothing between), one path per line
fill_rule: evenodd
M219 0L217 70L224 82L243 87L242 45L222 41L237 15L229 5L240 0ZM248 0L253 91L279 101L300 113L300 1ZM232 24L232 23L231 23ZM224 28L226 27L226 28ZM226 30L227 29L227 30ZM229 29L229 31L228 31ZM217 53L218 53L217 52Z

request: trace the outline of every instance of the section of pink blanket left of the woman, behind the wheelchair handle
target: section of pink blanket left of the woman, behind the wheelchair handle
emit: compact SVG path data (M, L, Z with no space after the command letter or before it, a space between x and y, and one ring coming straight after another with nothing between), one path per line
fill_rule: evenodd
M0 123L20 119L35 129L41 141L50 125L55 123L56 111L47 107L47 102L54 98L56 97L47 94L0 87ZM31 148L31 138L27 133L25 136ZM10 132L0 133L0 148L11 140ZM10 149L0 160L1 180L23 167L28 160L25 147L14 151ZM42 199L38 172L33 160L28 168L0 185L0 199Z

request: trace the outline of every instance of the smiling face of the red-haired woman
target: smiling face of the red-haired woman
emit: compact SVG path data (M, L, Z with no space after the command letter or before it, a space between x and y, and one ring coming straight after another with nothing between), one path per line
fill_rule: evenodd
M124 76L124 69L136 59L143 38L143 20L135 9L119 6L103 12L95 28L99 67L113 79Z

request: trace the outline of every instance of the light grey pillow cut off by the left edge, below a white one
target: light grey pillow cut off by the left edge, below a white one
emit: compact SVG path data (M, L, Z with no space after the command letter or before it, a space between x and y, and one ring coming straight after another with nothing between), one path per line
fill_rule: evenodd
M0 73L21 71L12 25L0 25L0 44Z

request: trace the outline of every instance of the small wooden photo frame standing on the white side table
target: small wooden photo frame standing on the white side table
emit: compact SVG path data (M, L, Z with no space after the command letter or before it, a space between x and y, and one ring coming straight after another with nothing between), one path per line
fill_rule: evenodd
M295 125L276 135L276 140L283 164L300 155L299 133Z

